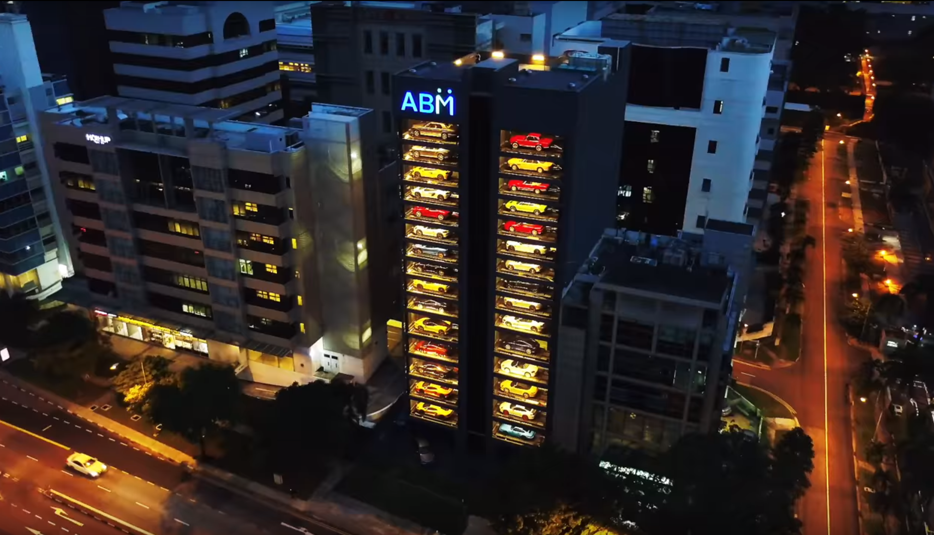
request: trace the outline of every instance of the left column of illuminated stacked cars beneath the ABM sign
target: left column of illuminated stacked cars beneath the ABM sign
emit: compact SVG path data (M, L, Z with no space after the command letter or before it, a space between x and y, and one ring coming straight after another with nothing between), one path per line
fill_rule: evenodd
M421 98L413 101L411 111L424 113L426 119L398 120L408 397L411 415L456 427L460 421L460 125L432 120L435 114L425 111L428 104Z

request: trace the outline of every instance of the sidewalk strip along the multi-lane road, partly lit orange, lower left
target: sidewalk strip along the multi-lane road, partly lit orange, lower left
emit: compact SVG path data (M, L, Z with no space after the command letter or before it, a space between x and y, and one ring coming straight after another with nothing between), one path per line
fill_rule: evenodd
M196 358L195 358L196 359ZM191 468L196 477L216 486L259 501L264 505L296 516L304 516L312 522L329 528L355 535L425 535L430 532L412 522L379 511L365 503L352 500L333 491L324 491L311 500L295 500L288 494L274 488L250 481L230 472L224 472L206 463L200 463L190 455L161 443L146 434L114 422L105 415L98 414L88 407L67 401L55 394L34 387L6 371L0 370L0 387L19 391L23 404L34 405L47 402L76 415L92 424L120 435L128 442L135 443L156 454L155 457ZM17 394L14 394L17 395Z

